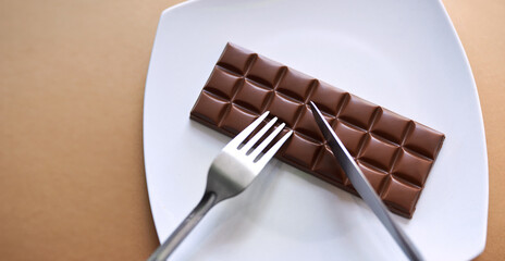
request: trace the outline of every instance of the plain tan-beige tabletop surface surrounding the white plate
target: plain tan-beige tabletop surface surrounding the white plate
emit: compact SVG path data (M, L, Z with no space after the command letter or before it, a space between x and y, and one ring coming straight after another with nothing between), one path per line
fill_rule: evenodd
M0 259L143 260L144 84L180 0L0 0ZM505 1L445 0L470 60L490 163L489 235L505 257Z

